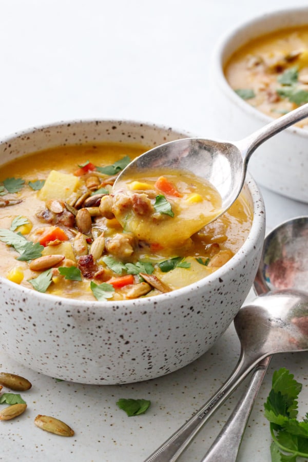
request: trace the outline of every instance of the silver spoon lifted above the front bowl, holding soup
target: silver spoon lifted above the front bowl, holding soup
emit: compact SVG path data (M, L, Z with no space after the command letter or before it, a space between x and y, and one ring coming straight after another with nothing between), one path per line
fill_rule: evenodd
M279 119L262 127L247 138L238 141L217 141L202 138L185 138L157 146L133 160L119 175L113 185L113 191L131 181L142 171L156 169L179 169L194 173L211 183L219 192L222 204L216 214L200 217L201 229L214 221L234 203L238 197L246 176L247 163L257 147L276 133L308 116L308 104L305 104ZM121 219L120 219L121 221ZM172 226L172 222L170 222ZM189 226L193 226L189 234ZM187 236L196 232L194 220L187 220Z

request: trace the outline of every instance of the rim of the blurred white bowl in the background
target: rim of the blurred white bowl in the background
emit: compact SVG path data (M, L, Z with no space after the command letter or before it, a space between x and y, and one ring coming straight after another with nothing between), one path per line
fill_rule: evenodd
M303 21L304 13L306 15L306 20ZM263 123L263 125L268 124L269 122L272 122L273 119L269 117L269 115L264 114L261 112L259 109L256 109L254 106L251 106L249 103L244 101L228 84L223 67L225 62L228 60L228 58L236 51L237 49L240 48L240 46L234 47L231 51L227 52L227 47L230 46L230 44L233 43L233 41L236 40L236 38L240 35L246 32L247 30L252 31L254 30L253 28L256 28L264 21L270 22L274 18L277 20L282 21L285 17L290 19L290 15L293 14L298 20L292 20L292 22L284 27L279 27L276 26L272 30L266 30L263 33L256 33L253 34L252 36L249 36L247 40L245 40L240 46L245 45L249 41L253 40L253 38L257 38L258 36L266 35L267 33L271 33L271 31L275 30L282 30L282 29L288 29L292 28L296 25L305 25L308 24L308 6L299 6L299 7L293 7L293 8L282 8L279 10L274 10L266 13L262 13L259 16L255 16L253 18L249 18L248 20L236 25L233 28L230 28L227 30L218 40L214 51L211 56L211 68L213 69L213 72L215 73L215 79L217 81L217 85L220 87L220 89L223 91L223 93L237 106L239 106L243 111L248 113L249 115L252 115L254 118L258 119L260 122ZM301 20L301 21L300 21ZM284 131L289 132L289 133L295 133L296 135L302 137L302 138L308 138L308 130L296 126L291 126L286 128Z

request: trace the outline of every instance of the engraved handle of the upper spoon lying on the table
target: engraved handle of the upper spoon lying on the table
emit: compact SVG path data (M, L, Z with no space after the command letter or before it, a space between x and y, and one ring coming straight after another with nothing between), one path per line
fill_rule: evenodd
M257 355L252 352L252 356L248 356L241 352L235 370L216 394L199 411L192 415L181 428L171 435L162 446L145 459L144 462L175 462L214 411L217 410L262 358L264 356L260 357L259 353Z

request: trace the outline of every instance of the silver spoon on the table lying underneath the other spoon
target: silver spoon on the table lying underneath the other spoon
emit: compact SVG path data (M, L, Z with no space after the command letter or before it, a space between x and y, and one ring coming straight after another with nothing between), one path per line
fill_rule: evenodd
M286 221L265 238L254 288L258 295L295 287L308 292L308 217ZM217 462L228 454L235 462L246 425L271 356L257 365L247 390L201 462Z

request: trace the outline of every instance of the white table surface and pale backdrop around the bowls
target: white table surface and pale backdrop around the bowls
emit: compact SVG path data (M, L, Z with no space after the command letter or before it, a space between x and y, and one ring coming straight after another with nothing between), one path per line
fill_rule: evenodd
M292 3L2 0L0 137L60 120L114 118L154 122L210 138L210 105L215 102L208 66L218 38L233 25ZM267 230L308 215L308 204L264 188L262 192ZM33 384L22 393L27 413L0 424L0 460L141 462L218 389L238 357L232 325L209 352L182 370L128 385L84 386L56 382L0 352L1 371L23 375ZM308 355L277 355L249 420L239 461L271 459L263 402L273 371L280 367L303 383L301 417L307 411ZM202 458L244 388L218 410L180 460ZM146 414L128 418L115 405L121 397L147 398L152 405ZM38 413L66 421L75 436L61 438L37 429L33 419ZM228 460L227 455L222 460Z

